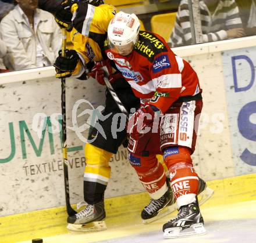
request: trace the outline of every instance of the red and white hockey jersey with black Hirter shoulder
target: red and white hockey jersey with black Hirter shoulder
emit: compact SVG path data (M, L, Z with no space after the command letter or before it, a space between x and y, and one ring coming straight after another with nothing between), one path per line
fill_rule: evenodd
M157 34L140 31L136 46L128 56L113 52L105 42L105 52L129 82L134 94L162 113L182 96L201 92L197 74L187 61L176 56Z

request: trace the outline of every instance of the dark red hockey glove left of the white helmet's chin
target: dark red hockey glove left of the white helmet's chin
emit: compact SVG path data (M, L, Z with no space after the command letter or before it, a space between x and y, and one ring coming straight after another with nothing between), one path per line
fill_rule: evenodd
M108 77L109 82L114 82L115 79L123 77L120 72L112 74L112 67L110 60L97 61L91 69L90 76L98 81L101 85L106 85L104 77Z

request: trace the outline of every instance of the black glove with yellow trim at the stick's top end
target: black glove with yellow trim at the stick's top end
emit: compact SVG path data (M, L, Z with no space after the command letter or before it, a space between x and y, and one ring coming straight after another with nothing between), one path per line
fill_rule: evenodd
M61 28L66 28L67 31L71 31L73 28L71 8L74 3L77 3L77 0L64 0L56 8L55 21Z

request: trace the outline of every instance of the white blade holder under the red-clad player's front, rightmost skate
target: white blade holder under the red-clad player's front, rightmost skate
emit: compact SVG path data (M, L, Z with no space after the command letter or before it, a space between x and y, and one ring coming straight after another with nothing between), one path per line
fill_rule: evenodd
M183 237L190 237L195 235L203 235L206 233L204 225L202 223L197 223L191 225L189 228L182 230L182 227L174 227L173 229L166 229L163 233L163 237L168 239L175 239L175 238L183 238Z

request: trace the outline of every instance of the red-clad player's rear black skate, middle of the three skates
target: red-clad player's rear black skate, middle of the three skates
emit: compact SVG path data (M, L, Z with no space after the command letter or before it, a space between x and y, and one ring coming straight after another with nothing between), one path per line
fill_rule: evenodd
M141 218L143 219L143 223L151 223L170 213L168 210L168 206L174 204L174 202L175 201L173 193L170 188L158 200L151 199L150 203L145 206L145 208L141 212Z

